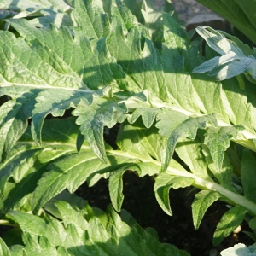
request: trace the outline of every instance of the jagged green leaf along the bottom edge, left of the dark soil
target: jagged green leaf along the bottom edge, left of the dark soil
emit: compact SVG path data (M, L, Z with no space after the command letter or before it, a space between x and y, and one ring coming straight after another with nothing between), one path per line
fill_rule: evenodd
M108 224L102 225L96 215L90 220L83 212L74 210L67 202L57 201L55 206L61 213L64 225L51 219L33 216L25 212L10 211L9 218L15 220L23 231L24 246L16 247L14 255L173 255L189 256L177 247L161 244L138 224L129 226L119 215L108 207ZM29 223L27 222L29 219ZM4 255L13 255L14 247L8 248L0 240ZM45 254L46 253L46 254Z

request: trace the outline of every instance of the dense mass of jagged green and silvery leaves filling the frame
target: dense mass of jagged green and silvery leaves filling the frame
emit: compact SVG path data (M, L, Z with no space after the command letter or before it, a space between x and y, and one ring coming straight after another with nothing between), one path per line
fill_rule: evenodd
M121 211L127 170L155 176L169 215L170 189L201 189L195 229L214 201L227 202L214 245L244 218L256 229L254 49L201 27L201 56L169 1L164 12L129 0L0 9L0 213L15 227L3 255L189 255ZM103 131L116 124L113 149ZM106 213L73 194L101 178Z

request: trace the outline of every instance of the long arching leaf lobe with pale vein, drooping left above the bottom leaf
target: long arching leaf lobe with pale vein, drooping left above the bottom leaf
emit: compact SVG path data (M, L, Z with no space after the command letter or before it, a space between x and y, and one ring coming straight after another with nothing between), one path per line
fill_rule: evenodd
M91 180L95 175L97 180L105 174L119 170L121 166L136 163L137 159L131 159L119 152L107 154L108 162L103 164L95 154L85 150L80 154L70 154L49 166L49 172L45 173L38 182L38 187L33 194L32 208L38 212L40 207L50 198L59 194L63 189L73 193L87 179ZM113 164L114 163L114 164ZM127 166L127 168L130 168ZM147 169L148 170L148 169ZM153 169L154 170L154 169ZM154 171L155 173L155 171Z

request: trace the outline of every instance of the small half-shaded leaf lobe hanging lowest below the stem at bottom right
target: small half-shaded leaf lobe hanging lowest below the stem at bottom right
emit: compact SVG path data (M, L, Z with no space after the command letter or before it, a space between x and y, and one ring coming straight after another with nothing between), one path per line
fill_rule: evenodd
M225 237L229 236L233 230L236 230L247 211L245 207L236 205L236 207L232 207L228 212L224 213L213 235L214 246L217 246Z

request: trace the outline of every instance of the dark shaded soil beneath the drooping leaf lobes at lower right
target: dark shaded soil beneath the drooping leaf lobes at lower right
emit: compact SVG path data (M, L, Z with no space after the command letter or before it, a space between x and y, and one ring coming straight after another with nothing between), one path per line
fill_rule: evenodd
M247 245L253 241L242 231L249 228L241 224L241 232L231 234L221 245L213 247L212 237L221 216L228 210L224 202L217 201L207 210L199 230L195 230L192 221L191 202L195 195L193 188L171 189L170 202L173 216L162 211L154 197L154 178L137 177L135 172L125 172L123 207L137 219L143 228L152 227L157 230L161 242L171 243L184 249L192 256L217 256L224 248L232 247L238 242ZM108 180L102 179L89 188L86 183L78 194L88 200L91 206L106 210L110 204Z

